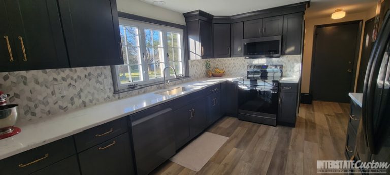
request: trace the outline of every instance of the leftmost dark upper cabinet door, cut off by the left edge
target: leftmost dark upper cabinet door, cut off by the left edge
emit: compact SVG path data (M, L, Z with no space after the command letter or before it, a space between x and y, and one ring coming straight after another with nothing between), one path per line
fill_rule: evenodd
M4 0L0 0L0 23L2 24L0 25L0 72L20 70L19 60L15 57L14 37Z

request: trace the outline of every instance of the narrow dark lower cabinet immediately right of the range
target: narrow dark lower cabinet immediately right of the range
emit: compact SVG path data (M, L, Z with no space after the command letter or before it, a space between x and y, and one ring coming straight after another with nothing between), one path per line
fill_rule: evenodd
M295 127L298 105L298 84L280 83L277 124Z

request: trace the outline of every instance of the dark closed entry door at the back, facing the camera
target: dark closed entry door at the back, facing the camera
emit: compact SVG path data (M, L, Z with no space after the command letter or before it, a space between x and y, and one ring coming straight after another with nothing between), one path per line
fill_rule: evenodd
M362 21L315 26L310 90L314 100L349 102Z

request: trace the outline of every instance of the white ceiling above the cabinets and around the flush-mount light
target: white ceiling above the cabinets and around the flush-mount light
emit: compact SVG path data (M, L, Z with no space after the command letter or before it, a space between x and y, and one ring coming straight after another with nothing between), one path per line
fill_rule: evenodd
M134 0L129 0L134 1ZM137 1L137 0L136 0ZM153 4L155 0L138 0ZM185 13L203 10L212 15L236 15L272 7L284 6L306 0L163 0L157 5L175 12ZM306 18L330 16L335 9L343 8L348 13L362 12L375 6L377 0L311 0Z

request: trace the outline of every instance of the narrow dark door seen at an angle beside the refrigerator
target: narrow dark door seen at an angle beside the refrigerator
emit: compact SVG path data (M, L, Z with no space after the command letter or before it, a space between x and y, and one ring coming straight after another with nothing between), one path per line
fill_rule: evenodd
M363 93L363 83L364 78L366 77L366 70L368 60L370 59L371 49L372 49L372 32L375 26L375 19L371 18L365 22L364 25L364 34L363 34L363 45L362 45L362 54L360 56L360 68L359 68L359 77L358 77L358 86L356 87L357 93Z

